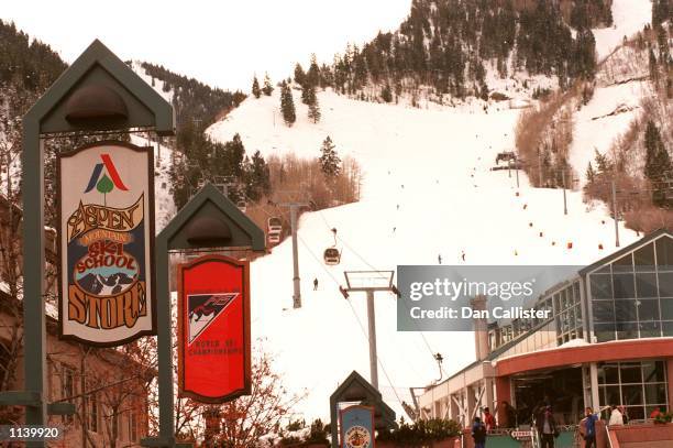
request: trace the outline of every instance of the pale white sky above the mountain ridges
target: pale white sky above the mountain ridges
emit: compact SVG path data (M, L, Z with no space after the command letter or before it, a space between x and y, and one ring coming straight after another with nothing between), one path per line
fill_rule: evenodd
M108 7L113 4L114 7ZM140 59L212 86L244 91L253 74L273 80L331 62L346 43L395 30L411 0L2 0L0 19L49 44L67 63L99 39Z

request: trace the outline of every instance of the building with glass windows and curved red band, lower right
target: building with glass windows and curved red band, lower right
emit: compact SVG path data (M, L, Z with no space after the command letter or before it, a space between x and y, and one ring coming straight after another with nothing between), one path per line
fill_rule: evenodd
M578 270L534 307L553 317L475 332L475 346L488 349L427 387L420 417L467 426L488 406L498 426L521 427L543 403L561 425L576 424L586 406L624 405L631 420L673 409L673 233L653 232Z

